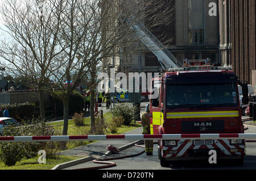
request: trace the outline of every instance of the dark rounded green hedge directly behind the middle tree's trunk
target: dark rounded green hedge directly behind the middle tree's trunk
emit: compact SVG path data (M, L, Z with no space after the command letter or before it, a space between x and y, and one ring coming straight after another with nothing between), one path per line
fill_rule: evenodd
M55 94L61 95L62 91L57 91ZM57 116L63 116L64 107L60 99L51 95L51 100L53 104L56 104ZM80 113L84 108L84 97L77 91L73 91L69 98L69 115L74 115L75 112Z

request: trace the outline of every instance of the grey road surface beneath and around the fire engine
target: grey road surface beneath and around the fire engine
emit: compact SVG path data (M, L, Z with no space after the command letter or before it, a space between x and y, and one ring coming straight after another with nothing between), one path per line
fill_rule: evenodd
M247 125L249 128L245 133L256 133L256 127ZM135 154L142 151L143 148L133 146L129 149L121 151L118 155L110 155L109 157L119 157L123 155ZM109 158L107 157L107 158ZM245 162L242 166L234 166L232 163L217 163L210 165L207 161L185 161L170 165L170 167L161 167L158 159L157 145L154 145L154 152L152 156L146 156L145 153L138 155L137 157L117 159L114 160L117 164L115 167L108 168L106 170L243 170L253 169L256 170L256 142L246 142L246 156ZM101 164L93 163L93 161L86 162L86 167L101 166ZM84 165L84 166L85 166ZM73 167L75 169L75 166Z

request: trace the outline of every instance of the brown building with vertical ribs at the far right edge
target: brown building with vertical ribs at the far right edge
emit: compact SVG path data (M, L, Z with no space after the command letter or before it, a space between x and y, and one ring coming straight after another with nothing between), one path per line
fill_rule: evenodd
M256 86L255 0L219 0L221 61Z

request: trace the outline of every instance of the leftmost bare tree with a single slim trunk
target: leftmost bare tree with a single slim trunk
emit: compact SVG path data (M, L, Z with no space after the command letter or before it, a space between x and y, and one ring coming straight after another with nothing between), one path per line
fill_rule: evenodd
M46 3L47 2L47 3ZM15 75L35 81L39 90L40 116L45 119L43 92L49 84L54 57L63 51L58 45L60 17L56 1L5 0L1 15L6 38L1 41L2 65ZM47 5L47 7L42 7Z

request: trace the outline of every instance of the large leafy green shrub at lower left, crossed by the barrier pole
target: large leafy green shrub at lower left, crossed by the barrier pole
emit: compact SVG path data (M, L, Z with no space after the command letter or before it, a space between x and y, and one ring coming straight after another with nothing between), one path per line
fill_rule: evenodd
M3 136L50 136L59 135L55 128L48 127L39 119L33 118L27 122L32 123L28 125L24 123L22 127L5 127L3 128ZM47 158L56 156L58 150L56 142L1 142L0 153L1 160L5 165L15 165L17 161L22 158L32 158L38 155L39 150L45 150Z

